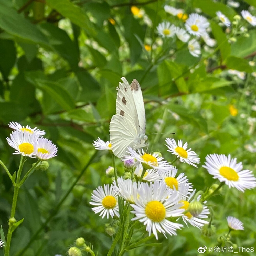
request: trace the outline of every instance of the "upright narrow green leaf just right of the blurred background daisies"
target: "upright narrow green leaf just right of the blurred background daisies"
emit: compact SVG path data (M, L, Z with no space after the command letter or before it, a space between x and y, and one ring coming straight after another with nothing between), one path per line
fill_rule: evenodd
M222 61L225 61L231 53L231 46L228 43L226 34L222 31L222 28L211 20L210 24L212 28L212 34L214 35L215 39L218 42L218 47L220 49Z

